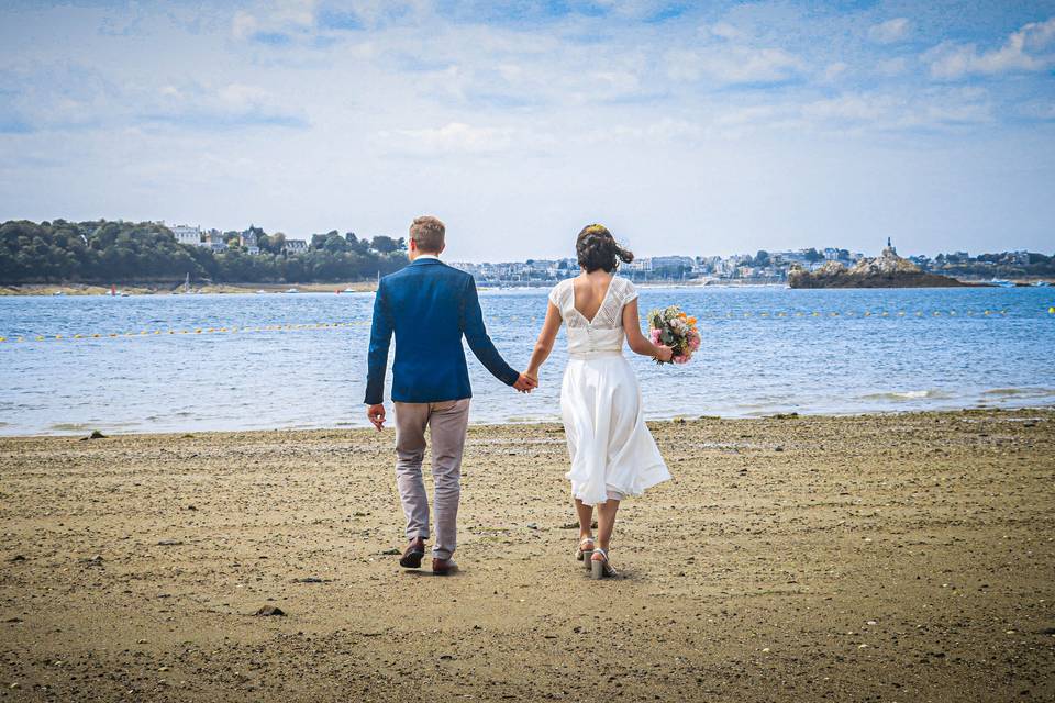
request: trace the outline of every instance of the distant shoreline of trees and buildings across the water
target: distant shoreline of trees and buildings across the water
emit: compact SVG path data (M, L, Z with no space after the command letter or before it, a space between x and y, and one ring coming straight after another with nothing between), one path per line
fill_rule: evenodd
M877 244L884 244L878 242ZM886 241L897 253L895 243ZM331 230L308 238L249 225L220 231L165 222L54 220L0 224L0 283L114 281L158 283L312 283L373 281L406 266L404 238ZM902 255L903 256L903 255ZM731 256L642 256L620 272L636 282L782 284L792 269L814 271L866 258L839 247L759 250ZM963 280L1029 281L1055 276L1055 255L1013 250L910 255L923 271ZM448 261L479 286L547 286L578 274L575 258Z

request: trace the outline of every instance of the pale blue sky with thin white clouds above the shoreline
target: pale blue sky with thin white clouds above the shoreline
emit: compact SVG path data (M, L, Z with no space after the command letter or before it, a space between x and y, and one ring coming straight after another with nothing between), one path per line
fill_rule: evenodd
M0 219L1055 250L1055 1L9 1L0 46Z

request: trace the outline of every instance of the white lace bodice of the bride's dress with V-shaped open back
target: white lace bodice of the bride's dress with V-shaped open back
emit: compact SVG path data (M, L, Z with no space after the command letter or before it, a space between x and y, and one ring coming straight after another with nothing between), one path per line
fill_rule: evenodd
M568 353L571 357L588 357L596 354L621 353L623 332L623 305L637 298L637 289L625 278L612 277L608 293L593 320L575 309L575 284L566 279L549 291L549 301L560 311L568 327Z

